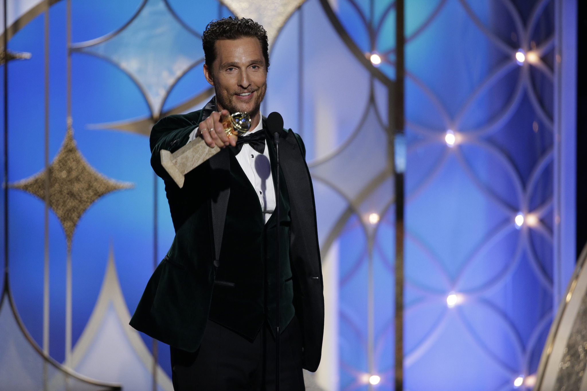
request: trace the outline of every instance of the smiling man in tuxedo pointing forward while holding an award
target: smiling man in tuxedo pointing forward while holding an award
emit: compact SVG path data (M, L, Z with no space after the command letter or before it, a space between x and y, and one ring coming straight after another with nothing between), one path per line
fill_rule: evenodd
M320 363L324 325L305 148L291 129L281 132L276 194L274 138L259 110L269 67L265 29L225 18L208 24L202 39L204 75L216 95L203 110L161 118L151 131L151 166L165 181L176 237L130 324L171 346L176 391L273 390L279 284L280 388L301 391L302 368L313 372ZM220 123L235 112L251 116L244 137L228 137ZM180 189L160 151L195 137L221 151L185 175Z

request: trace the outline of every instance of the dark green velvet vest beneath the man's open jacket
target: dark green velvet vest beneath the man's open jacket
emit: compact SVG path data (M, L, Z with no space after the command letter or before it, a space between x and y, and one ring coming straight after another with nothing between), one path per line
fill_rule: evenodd
M275 153L268 140L275 183ZM241 152L244 153L244 152ZM289 197L281 172L279 249L281 313L284 329L294 317L294 290L289 265ZM230 198L222 235L208 317L247 338L254 339L265 319L275 326L276 213L265 224L255 189L230 152Z

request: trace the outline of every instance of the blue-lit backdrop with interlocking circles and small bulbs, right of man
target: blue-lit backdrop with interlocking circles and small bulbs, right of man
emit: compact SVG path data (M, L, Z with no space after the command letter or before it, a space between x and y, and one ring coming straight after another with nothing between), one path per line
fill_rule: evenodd
M518 376L525 379L522 387L531 388L548 332L553 70L546 59L554 49L554 24L536 21L554 20L554 2L521 3L407 3L404 365L410 390L513 389ZM386 14L386 6L376 1L341 0L335 9L353 44L378 53L380 69L390 78L392 8L390 3ZM516 60L518 48L528 60ZM523 223L515 223L518 214ZM380 232L385 226L383 219ZM393 232L377 236L373 248L391 237ZM344 276L344 265L356 264L357 257L348 249L352 244L341 246ZM374 268L380 260L393 263L393 247L376 253ZM389 287L392 267L386 270L381 284ZM353 273L370 284L364 268ZM362 327L349 317L364 311L367 301L353 306L343 300L349 277L343 278L340 387L366 388L364 373L383 374L380 386L392 387L393 346L387 346L384 359L375 349L376 363L367 362L366 314L359 317ZM376 278L373 284L377 292ZM456 305L447 306L450 295ZM392 339L385 336L392 332L391 295L374 306L371 338L377 346Z

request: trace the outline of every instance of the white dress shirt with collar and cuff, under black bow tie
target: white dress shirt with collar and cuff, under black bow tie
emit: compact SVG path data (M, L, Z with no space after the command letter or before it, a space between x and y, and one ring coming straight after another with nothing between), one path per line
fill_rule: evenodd
M261 113L259 113L261 116ZM262 118L262 117L261 117ZM263 129L263 121L259 121L257 126L244 135L248 136L254 132L261 131ZM190 133L188 142L193 141L196 138L198 128L195 128ZM241 165L242 171L245 172L249 182L257 192L259 203L261 203L261 210L263 211L263 217L265 223L271 217L275 210L275 188L273 186L273 176L271 174L271 165L269 164L269 148L267 147L267 141L265 140L265 149L262 154L255 151L249 144L242 144L241 152L237 155L237 161Z

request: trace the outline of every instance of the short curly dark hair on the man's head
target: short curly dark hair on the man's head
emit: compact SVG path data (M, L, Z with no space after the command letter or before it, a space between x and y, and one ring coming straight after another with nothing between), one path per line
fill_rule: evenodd
M204 48L205 63L212 69L212 63L216 59L215 44L218 39L239 39L255 37L261 43L263 57L265 57L265 70L269 69L269 42L267 32L263 26L252 19L239 18L238 16L222 18L220 21L208 23L202 35L202 47Z

